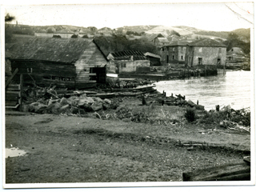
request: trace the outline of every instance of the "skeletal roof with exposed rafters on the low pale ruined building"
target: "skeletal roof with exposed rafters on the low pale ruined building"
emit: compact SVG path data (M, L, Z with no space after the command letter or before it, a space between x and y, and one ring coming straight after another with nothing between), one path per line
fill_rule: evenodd
M142 53L142 51L139 50L122 50L114 53L110 53L113 55L114 60L120 60L120 59L130 59L131 56L133 56L134 60L145 60L146 57Z

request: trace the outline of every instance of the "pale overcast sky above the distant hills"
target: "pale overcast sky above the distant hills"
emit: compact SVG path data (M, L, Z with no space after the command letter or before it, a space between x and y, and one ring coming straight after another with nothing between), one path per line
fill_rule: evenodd
M250 28L254 22L252 2L12 5L3 9L5 13L14 15L18 23L35 26L96 26L98 29L108 26L114 29L120 26L162 25L230 31Z

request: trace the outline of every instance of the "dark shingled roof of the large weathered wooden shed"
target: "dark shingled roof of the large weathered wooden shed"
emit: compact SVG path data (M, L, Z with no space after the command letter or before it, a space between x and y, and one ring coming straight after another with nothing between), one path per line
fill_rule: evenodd
M8 46L11 59L75 62L92 42L87 38L31 38Z

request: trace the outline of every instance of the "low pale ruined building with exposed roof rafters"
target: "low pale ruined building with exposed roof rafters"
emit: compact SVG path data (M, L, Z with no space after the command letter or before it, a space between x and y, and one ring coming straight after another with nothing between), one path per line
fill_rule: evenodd
M123 50L108 54L107 73L146 73L150 72L150 61L141 51Z

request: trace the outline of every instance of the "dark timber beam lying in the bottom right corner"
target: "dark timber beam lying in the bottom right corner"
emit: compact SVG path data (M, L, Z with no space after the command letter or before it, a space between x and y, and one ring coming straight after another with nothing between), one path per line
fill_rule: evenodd
M182 174L183 181L250 181L250 165L246 162L214 166Z

